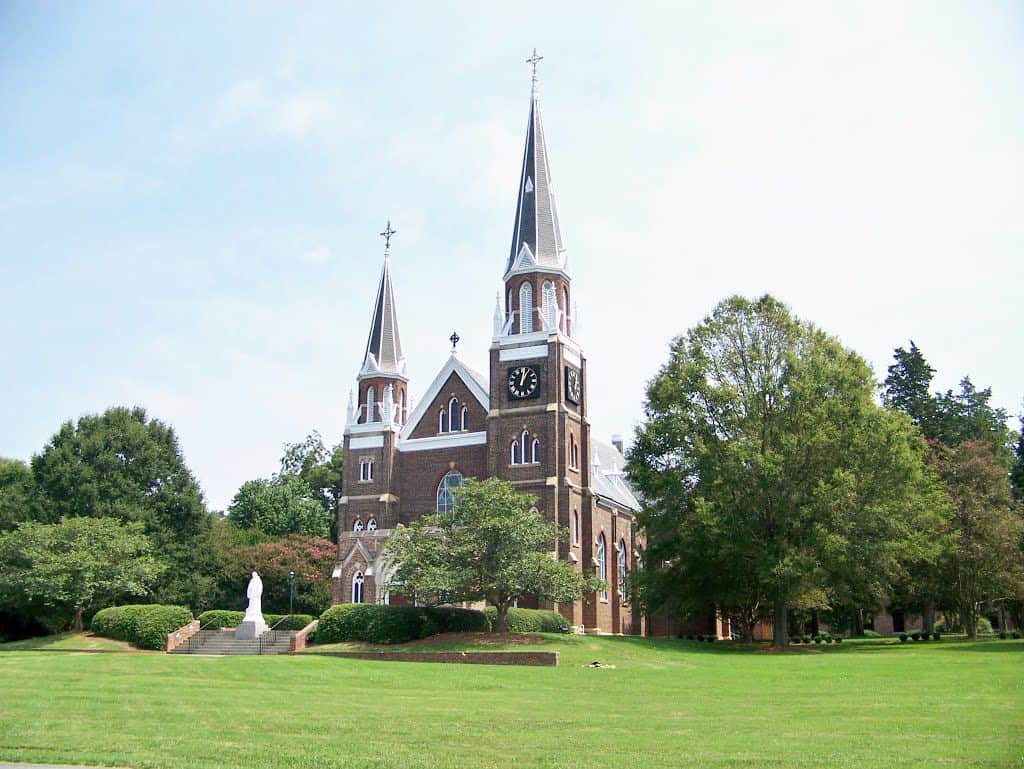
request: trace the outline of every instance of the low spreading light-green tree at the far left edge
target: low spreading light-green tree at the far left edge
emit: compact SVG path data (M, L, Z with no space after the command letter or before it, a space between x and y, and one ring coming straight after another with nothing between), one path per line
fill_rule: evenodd
M120 598L145 595L162 565L141 523L114 518L63 518L19 523L0 535L0 599L82 614Z

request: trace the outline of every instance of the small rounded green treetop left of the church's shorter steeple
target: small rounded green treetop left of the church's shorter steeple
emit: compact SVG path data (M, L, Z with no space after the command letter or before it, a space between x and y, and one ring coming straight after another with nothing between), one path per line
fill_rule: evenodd
M298 475L278 475L270 480L246 481L227 508L228 517L242 528L263 533L328 537L331 511Z

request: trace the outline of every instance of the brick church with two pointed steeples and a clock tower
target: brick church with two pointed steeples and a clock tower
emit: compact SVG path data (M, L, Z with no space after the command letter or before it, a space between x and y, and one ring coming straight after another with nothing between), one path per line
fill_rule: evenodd
M494 316L486 375L452 353L414 405L392 285L390 222L369 338L344 430L334 603L399 603L388 586L387 540L397 524L452 509L466 477L498 477L537 498L568 531L558 557L596 574L604 590L555 608L587 633L642 634L627 580L643 551L639 502L621 438L593 436L587 357L573 329L572 274L562 247L541 121L535 51L529 117L505 291ZM496 272L501 262L496 260Z

